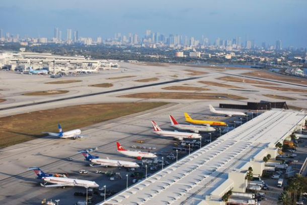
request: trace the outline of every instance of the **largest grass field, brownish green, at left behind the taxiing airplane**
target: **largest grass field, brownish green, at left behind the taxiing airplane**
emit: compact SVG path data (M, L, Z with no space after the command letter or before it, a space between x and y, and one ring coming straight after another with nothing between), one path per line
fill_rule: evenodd
M41 132L79 129L166 105L166 102L130 102L69 106L0 118L0 148L44 136Z

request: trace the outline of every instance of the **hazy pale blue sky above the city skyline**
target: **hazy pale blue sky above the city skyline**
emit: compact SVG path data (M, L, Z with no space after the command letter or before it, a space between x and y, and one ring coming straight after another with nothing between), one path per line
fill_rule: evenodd
M283 46L307 47L307 0L1 0L4 33L52 37L53 29L79 36L113 37L115 32L200 37L241 36Z

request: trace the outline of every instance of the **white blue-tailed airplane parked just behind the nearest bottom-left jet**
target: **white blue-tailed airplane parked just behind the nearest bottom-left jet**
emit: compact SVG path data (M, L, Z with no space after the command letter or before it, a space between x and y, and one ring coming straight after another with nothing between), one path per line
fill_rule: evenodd
M82 155L85 157L87 161L91 162L90 164L91 167L98 167L98 166L128 167L128 168L132 168L132 167L138 168L139 167L139 165L135 162L113 160L113 159L109 159L109 157L107 157L107 159L101 159L99 158L99 156L93 156L87 151L81 151L80 153L82 153Z

